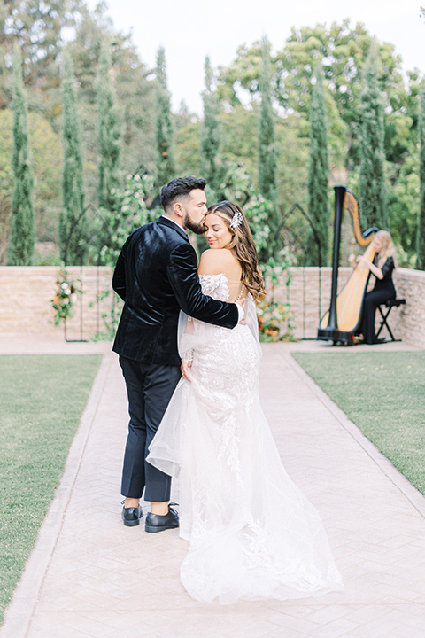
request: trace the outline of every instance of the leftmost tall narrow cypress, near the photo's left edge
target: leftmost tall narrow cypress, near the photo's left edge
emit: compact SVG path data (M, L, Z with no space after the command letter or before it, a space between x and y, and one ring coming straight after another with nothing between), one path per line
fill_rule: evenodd
M32 201L33 175L29 159L27 97L22 79L19 44L13 50L13 153L14 189L8 265L29 266L33 259L35 228Z

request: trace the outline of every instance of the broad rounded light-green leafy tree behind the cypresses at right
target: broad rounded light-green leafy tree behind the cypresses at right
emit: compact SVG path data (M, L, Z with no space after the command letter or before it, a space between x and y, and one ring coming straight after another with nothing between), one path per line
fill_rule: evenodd
M329 159L339 166L343 160L349 169L359 165L359 94L372 39L365 25L352 26L349 19L334 22L330 27L322 24L294 27L282 50L272 58L274 98L280 112L286 116L296 113L298 120L305 122L311 105L314 66L321 62L327 88ZM239 47L235 61L220 68L218 90L228 108L246 102L246 92L255 104L259 93L260 49L260 43ZM404 85L401 58L390 43L380 45L379 57L385 111L391 117L392 113L403 115L409 91ZM300 125L302 132L302 122ZM304 130L308 136L308 126ZM401 149L400 153L402 157Z

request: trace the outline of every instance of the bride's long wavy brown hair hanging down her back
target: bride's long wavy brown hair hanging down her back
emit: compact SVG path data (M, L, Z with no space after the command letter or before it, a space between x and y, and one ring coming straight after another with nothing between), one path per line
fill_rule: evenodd
M251 235L251 229L246 221L246 217L242 210L237 206L229 202L227 199L220 201L218 204L213 204L208 208L207 214L216 214L226 223L228 230L232 234L231 242L226 246L228 250L232 250L237 260L242 266L242 281L245 284L246 289L251 292L254 300L263 299L266 294L264 288L264 279L259 269L259 257L257 254L257 248L254 244L254 240ZM234 216L236 219L239 215L241 222L232 228L230 225Z

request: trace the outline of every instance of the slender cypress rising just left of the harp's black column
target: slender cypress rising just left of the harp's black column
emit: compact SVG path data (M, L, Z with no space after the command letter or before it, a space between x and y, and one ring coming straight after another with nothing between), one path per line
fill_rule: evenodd
M310 150L308 164L308 211L313 222L315 242L307 255L307 265L325 266L328 259L329 204L328 204L328 130L326 124L325 93L323 74L318 69L315 74L312 105L310 108Z

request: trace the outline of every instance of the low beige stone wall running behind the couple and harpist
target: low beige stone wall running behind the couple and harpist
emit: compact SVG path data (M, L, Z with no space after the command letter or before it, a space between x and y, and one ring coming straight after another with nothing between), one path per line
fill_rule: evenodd
M81 280L84 291L73 318L67 322L67 338L94 338L97 332L105 331L104 321L109 320L112 304L116 304L111 291L112 268L84 266L67 270ZM331 274L331 268L291 268L290 284L286 285L284 276L275 289L275 300L290 304L290 324L296 338L316 337L320 317L329 305ZM340 289L350 274L351 268L340 268ZM57 267L0 267L0 333L47 336L63 332L63 325L53 323L51 308L57 276ZM391 330L396 338L425 347L425 272L397 268L394 282L398 297L406 299L406 306L391 311ZM98 305L94 303L97 295L108 290L109 296Z

